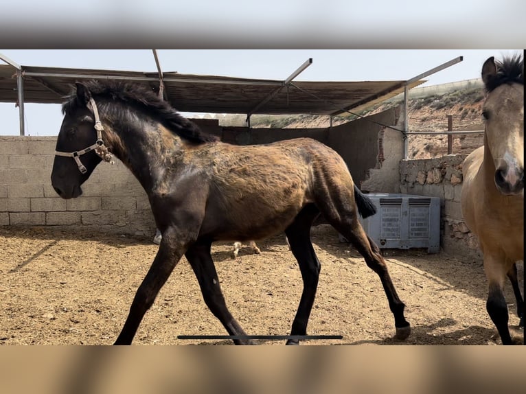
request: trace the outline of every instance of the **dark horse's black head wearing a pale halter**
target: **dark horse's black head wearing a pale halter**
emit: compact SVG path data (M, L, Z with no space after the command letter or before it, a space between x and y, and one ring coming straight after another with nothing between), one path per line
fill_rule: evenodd
M102 126L100 122L95 125L97 108L87 87L76 84L76 93L70 100L64 107L51 175L52 185L62 198L76 198L82 194L80 185L102 161L101 146L105 148L100 132Z

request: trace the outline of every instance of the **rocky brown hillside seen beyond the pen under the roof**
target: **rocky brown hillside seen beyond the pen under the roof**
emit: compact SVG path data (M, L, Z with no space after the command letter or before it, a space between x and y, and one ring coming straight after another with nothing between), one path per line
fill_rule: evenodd
M483 91L480 88L452 91L443 95L428 95L409 100L409 131L446 131L448 115L453 115L453 130L483 130L481 105ZM403 104L392 100L377 104L358 114L335 117L334 126L356 119L358 116L373 115L393 106ZM244 126L244 115L227 115L220 118L222 126ZM251 118L254 128L321 128L328 127L327 116L316 115L255 115ZM469 153L483 143L482 135L457 135L453 139L453 153ZM418 135L409 137L409 158L427 159L447 154L446 135Z

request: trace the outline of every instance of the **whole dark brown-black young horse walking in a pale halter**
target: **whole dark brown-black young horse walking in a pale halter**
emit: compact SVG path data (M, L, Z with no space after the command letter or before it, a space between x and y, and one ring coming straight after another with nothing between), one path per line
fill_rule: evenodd
M144 187L162 233L159 251L115 344L132 343L144 314L183 255L208 308L236 336L234 343L251 343L227 309L211 244L260 240L282 231L304 282L290 334L306 335L320 272L310 227L319 213L378 274L394 316L396 337L409 336L404 303L378 246L358 221L358 214L373 214L374 205L354 185L347 165L334 150L307 138L261 146L223 143L203 133L152 91L119 82L76 84L62 112L65 117L51 176L56 192L62 198L80 196L82 183L95 167L115 154ZM287 341L297 343L297 338Z

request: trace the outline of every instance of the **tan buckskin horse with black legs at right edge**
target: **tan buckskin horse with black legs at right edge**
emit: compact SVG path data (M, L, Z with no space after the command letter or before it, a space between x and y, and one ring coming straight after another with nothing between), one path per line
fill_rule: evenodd
M503 345L511 345L503 286L510 278L524 325L516 262L524 259L524 64L521 56L482 67L484 146L464 161L461 205L477 235L488 278L486 308Z

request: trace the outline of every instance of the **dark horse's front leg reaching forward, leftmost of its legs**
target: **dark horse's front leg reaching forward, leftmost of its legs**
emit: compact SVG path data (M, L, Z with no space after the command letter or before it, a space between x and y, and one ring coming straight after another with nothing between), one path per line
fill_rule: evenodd
M159 290L185 253L187 242L181 242L181 238L177 238L172 229L167 229L163 234L159 251L157 251L152 266L144 277L141 286L137 289L137 293L135 293L126 323L124 323L114 345L130 345L132 343L144 314L150 309L155 297L159 294Z

